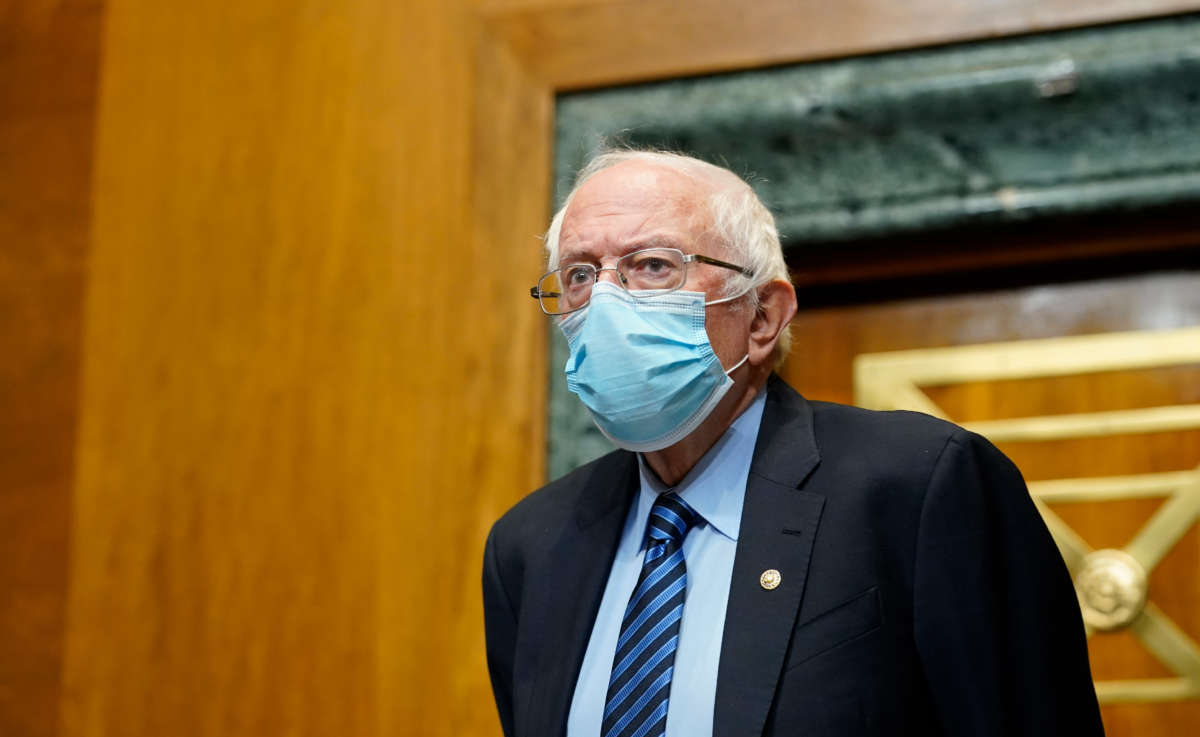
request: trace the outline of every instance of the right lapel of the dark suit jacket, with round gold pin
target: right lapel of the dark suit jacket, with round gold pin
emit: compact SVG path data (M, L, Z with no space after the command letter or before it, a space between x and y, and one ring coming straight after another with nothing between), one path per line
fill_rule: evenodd
M799 491L820 455L812 413L778 377L746 483L716 676L714 737L758 736L796 625L824 498ZM775 588L760 581L779 571Z

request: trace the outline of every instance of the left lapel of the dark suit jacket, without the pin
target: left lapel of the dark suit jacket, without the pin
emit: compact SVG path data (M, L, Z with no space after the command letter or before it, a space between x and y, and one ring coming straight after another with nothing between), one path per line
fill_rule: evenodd
M575 682L583 664L608 569L637 489L637 462L619 453L584 484L575 514L547 556L539 604L522 621L526 642L536 643L534 679L523 735L564 735Z

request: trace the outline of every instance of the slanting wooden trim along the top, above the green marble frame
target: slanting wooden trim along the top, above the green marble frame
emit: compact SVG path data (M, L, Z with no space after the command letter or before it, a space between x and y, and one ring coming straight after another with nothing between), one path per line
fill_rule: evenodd
M1194 0L478 0L557 89L626 84L1195 10Z

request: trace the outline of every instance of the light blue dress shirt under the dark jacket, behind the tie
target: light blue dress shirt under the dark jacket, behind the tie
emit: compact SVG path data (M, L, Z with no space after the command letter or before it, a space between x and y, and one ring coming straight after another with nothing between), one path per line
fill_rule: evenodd
M716 666L730 598L733 553L742 525L746 477L762 421L766 391L760 391L698 463L676 486L676 492L704 522L689 531L683 541L688 565L688 593L679 623L679 647L667 711L667 737L704 737L713 733L716 702ZM646 523L650 507L667 487L637 456L641 490L620 533L617 557L608 571L600 611L575 683L568 737L596 737L608 694L612 655L620 635L625 605L637 585L646 555Z

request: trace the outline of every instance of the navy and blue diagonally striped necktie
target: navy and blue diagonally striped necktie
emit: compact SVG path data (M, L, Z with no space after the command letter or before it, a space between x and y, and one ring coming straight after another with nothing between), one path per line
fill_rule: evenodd
M649 547L620 622L601 737L660 737L666 732L688 588L683 538L698 519L673 491L660 495L650 509L646 529Z

